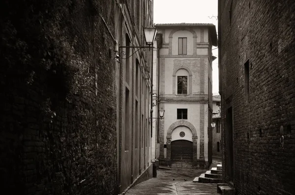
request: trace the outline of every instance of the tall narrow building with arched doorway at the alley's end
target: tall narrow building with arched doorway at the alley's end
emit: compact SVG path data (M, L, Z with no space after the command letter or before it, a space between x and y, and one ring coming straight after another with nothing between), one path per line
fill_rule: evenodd
M207 168L212 161L213 24L156 24L153 57L155 156L172 168Z

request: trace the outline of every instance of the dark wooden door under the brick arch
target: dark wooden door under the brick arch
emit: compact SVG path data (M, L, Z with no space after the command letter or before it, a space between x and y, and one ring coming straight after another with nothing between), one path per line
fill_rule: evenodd
M171 142L171 167L176 169L193 168L193 143L187 140Z

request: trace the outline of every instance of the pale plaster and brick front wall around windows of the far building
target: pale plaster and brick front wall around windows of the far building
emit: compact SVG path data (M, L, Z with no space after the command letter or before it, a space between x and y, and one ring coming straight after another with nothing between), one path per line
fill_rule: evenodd
M188 120L197 130L195 139L196 155L194 167L208 166L208 78L212 68L209 65L207 28L159 29L165 42L160 50L160 98L159 106L165 109L165 119L160 122L160 158L170 158L170 144L167 144L167 131L177 121L177 108L188 108ZM178 37L187 37L187 55L178 55ZM198 51L200 53L198 53ZM187 95L177 94L177 76L188 77ZM181 103L180 103L181 102ZM212 106L212 105L211 105ZM200 136L199 136L200 135ZM211 138L210 138L211 139ZM171 138L169 138L171 142ZM164 145L167 144L167 148ZM168 152L168 153L167 153ZM199 160L200 159L200 160Z

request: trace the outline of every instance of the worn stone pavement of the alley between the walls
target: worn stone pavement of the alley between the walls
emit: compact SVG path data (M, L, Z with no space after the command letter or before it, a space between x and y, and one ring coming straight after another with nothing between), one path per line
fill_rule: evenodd
M193 183L207 170L158 170L157 177L137 184L125 195L218 195L216 184Z

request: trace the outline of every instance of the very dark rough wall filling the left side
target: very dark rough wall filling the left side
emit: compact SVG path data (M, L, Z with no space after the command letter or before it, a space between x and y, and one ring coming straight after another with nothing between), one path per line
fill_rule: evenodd
M1 191L117 193L114 3L0 2Z

